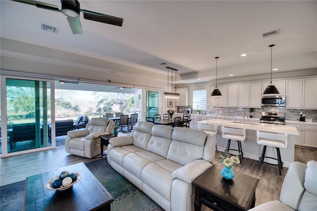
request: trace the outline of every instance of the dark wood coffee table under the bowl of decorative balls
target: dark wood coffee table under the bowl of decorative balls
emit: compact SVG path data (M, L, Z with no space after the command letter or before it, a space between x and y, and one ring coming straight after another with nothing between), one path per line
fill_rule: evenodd
M78 172L82 178L64 191L51 191L45 183L61 171ZM84 163L26 178L23 211L110 211L113 198Z

